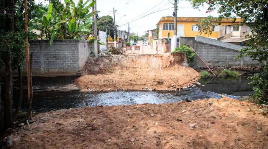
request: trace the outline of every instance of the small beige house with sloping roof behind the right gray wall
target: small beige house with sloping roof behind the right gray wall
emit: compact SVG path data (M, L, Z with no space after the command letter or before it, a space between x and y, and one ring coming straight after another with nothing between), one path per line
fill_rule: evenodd
M251 34L251 31L248 23L226 25L219 31L220 37L217 40L247 46L250 38L246 38L246 35Z

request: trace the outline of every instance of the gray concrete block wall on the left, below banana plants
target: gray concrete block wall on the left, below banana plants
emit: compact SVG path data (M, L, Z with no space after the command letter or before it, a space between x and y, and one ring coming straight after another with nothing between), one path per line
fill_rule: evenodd
M33 53L34 76L76 75L82 70L93 49L84 40L55 40L52 46L47 40L33 40L29 43L29 51ZM3 74L4 69L1 69L1 75Z

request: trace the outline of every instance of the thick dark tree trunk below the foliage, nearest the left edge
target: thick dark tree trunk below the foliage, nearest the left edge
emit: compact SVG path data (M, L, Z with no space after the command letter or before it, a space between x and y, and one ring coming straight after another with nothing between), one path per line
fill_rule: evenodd
M6 98L4 101L4 129L12 126L12 96L13 96L13 80L12 80L12 55L5 54L5 88Z

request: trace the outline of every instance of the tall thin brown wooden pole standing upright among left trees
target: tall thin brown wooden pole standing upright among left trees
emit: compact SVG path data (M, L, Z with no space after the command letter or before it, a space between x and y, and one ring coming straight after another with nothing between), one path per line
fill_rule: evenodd
M24 0L25 32L28 32L27 0ZM30 66L29 66L29 45L28 36L26 37L26 65L27 65L27 84L28 84L28 104L30 102Z

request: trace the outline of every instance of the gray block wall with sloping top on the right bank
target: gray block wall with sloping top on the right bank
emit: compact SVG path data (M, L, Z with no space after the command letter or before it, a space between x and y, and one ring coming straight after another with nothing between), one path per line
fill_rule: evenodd
M258 61L253 61L250 57L237 59L243 48L245 47L201 36L195 38L194 49L208 66L258 66ZM205 64L196 56L194 67L205 67Z

